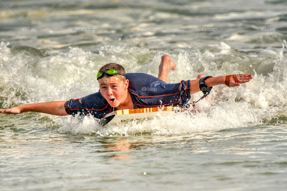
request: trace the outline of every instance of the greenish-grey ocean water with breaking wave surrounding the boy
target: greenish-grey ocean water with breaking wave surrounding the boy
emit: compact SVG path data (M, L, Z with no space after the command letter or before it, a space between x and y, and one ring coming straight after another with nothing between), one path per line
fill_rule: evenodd
M0 108L98 91L106 63L213 87L201 113L101 127L0 114L0 190L287 190L286 1L0 1ZM194 100L202 93L194 94Z

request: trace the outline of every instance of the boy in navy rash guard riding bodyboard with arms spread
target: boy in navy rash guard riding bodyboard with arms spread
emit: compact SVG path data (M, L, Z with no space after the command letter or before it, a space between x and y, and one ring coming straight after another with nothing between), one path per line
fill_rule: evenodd
M100 68L97 74L100 91L83 98L69 101L50 101L37 104L25 104L0 110L0 113L18 114L22 112L40 112L52 115L92 114L96 118L123 109L136 109L157 106L185 107L190 95L198 91L206 93L210 87L226 84L239 86L252 79L251 74L238 74L211 77L200 74L196 80L182 80L180 83L167 84L167 74L175 70L170 56L161 57L158 78L144 73L128 73L115 63Z

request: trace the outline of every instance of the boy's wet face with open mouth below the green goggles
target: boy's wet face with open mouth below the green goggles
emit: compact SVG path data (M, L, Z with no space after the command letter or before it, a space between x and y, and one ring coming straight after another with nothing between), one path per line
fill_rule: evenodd
M126 100L129 80L123 82L117 76L104 76L99 79L100 92L112 107L118 107Z

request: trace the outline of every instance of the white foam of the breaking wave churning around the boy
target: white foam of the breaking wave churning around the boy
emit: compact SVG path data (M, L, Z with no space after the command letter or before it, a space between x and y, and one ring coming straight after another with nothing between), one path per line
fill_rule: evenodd
M52 100L79 98L98 91L97 70L105 63L122 64L127 72L142 72L157 76L160 57L168 54L177 64L168 81L195 79L200 73L220 76L232 73L253 73L251 82L240 87L213 87L208 100L199 102L201 113L186 116L159 115L141 124L101 127L91 116L51 116L60 133L135 135L150 133L171 135L213 131L225 128L256 126L272 118L286 115L287 69L283 49L264 49L260 53L242 53L220 43L201 49L172 51L144 48L101 47L98 53L71 47L67 53L30 58L29 51L13 52L1 42L1 102L2 107ZM13 52L13 53L12 53ZM202 93L194 94L194 100ZM283 113L283 114L282 114ZM45 114L41 114L45 115ZM266 122L267 121L267 122Z

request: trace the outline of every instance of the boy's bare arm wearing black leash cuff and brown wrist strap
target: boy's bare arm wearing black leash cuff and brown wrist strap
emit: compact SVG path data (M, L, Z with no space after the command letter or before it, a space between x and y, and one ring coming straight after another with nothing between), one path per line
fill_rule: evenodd
M207 85L207 87L212 87L212 86L216 86L219 84L228 84L229 87L235 87L235 86L240 86L240 84L242 84L242 83L250 81L253 78L253 76L252 76L252 74L236 74L236 78L237 78L238 82L235 82L233 77L230 77L228 80L227 80L226 76L212 77L212 78L207 78L205 80L205 84ZM196 92L200 91L199 79L191 80L190 81L190 87L191 87L190 88L191 93L196 93Z

